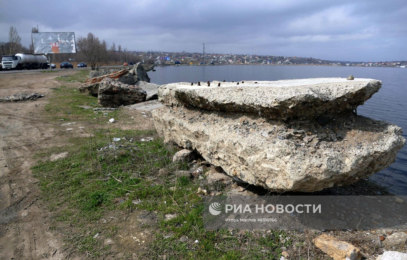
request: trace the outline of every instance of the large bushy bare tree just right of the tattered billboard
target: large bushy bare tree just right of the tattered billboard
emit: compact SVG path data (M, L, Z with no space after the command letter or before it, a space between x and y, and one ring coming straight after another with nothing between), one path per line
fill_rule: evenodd
M77 40L77 49L83 60L87 61L92 69L98 70L104 63L107 62L108 52L106 41L102 42L92 32L88 33L88 37L79 37Z

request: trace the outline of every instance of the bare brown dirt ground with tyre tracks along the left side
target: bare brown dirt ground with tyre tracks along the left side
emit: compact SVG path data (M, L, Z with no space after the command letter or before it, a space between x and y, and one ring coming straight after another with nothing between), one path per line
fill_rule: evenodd
M90 123L77 122L74 130L49 121L44 115L50 88L61 82L54 78L74 71L55 73L15 73L0 75L0 96L19 93L44 94L44 98L25 102L0 102L0 258L1 259L81 259L64 251L58 232L51 232L51 214L39 199L37 180L30 167L33 156L48 147L67 145L67 137L86 135ZM63 85L79 86L79 82ZM128 111L137 117L142 128L152 124L139 111ZM143 121L144 120L144 121ZM129 129L129 122L116 127ZM100 127L100 126L99 126Z

